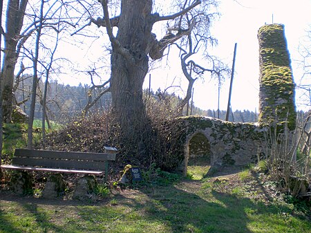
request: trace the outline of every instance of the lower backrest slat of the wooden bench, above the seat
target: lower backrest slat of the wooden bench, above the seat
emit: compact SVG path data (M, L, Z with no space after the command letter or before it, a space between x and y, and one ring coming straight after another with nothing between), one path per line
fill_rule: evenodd
M61 160L61 159L48 159L48 158L18 158L12 159L12 165L23 166L38 166L38 167L53 167L62 169L91 169L104 171L105 162L98 161L79 161L79 160Z

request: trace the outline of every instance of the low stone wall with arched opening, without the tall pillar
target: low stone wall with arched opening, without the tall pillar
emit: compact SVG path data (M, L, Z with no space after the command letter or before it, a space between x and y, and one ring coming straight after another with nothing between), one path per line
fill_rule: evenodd
M216 118L190 116L179 118L184 129L184 158L180 169L187 174L189 143L197 133L202 133L210 145L211 167L245 166L254 163L263 154L265 129L256 123L236 123Z

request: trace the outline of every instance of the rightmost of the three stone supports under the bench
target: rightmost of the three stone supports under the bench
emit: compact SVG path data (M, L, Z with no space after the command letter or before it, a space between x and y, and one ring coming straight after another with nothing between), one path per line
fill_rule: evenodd
M94 176L84 176L77 181L73 199L85 200L93 197L93 192L97 187Z

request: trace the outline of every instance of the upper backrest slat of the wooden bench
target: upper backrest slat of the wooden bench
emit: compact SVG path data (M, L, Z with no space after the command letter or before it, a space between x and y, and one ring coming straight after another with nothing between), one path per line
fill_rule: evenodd
M95 161L115 160L115 153L39 151L30 149L15 149L14 155L15 157L62 158L73 160L95 160Z

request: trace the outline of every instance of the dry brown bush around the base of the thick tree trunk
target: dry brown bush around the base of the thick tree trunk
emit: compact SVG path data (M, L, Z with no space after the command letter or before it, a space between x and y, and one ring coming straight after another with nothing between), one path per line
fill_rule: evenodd
M169 97L165 100L147 97L147 123L140 125L140 135L124 137L113 113L104 111L72 120L64 129L48 135L46 143L37 147L102 152L104 146L111 146L118 149L117 163L120 166L129 163L150 167L156 164L164 170L176 169L183 156L183 147L179 143L185 131L176 123L178 112L174 111L173 105Z

